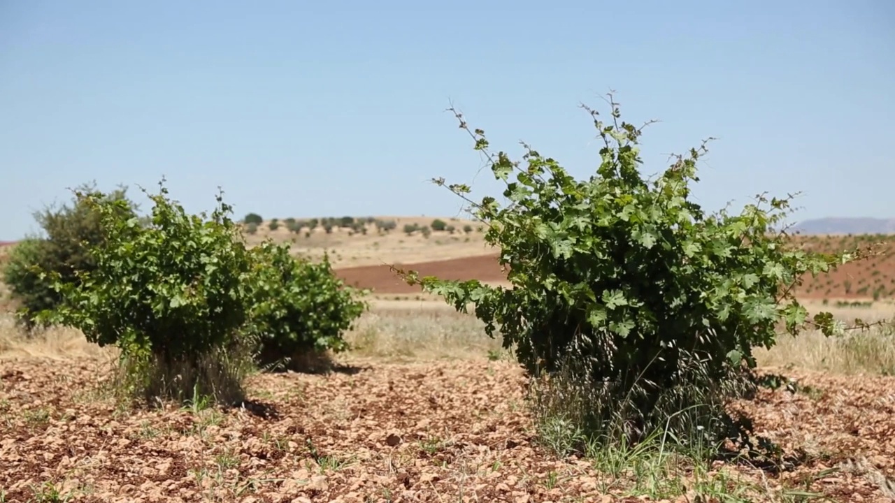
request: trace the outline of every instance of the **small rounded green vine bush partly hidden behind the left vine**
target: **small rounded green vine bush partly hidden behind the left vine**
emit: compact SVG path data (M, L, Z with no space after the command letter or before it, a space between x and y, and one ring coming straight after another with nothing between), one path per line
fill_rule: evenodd
M330 267L295 259L287 244L261 243L251 250L253 271L248 332L265 367L307 369L308 356L348 349L343 338L367 309L364 293L345 286Z

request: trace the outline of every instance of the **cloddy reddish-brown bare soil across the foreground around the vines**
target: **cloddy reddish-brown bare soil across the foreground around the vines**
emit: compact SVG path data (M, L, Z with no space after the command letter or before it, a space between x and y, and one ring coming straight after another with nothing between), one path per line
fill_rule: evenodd
M254 376L245 408L132 412L104 394L98 360L4 362L0 490L5 501L646 500L625 497L636 474L598 473L537 444L516 365L348 363ZM788 454L806 451L804 465L712 473L764 488L751 500L799 488L891 501L895 378L790 373L803 391L763 389L737 407Z

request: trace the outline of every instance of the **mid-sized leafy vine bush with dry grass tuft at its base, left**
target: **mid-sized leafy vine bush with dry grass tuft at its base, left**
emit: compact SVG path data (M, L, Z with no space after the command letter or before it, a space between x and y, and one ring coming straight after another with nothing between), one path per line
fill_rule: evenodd
M47 274L64 303L40 318L117 346L130 395L239 399L251 255L221 194L210 216L188 215L168 199L164 180L159 187L147 192L154 206L145 224L126 201L75 191L97 212L104 239L90 245L95 267L78 271L78 283Z

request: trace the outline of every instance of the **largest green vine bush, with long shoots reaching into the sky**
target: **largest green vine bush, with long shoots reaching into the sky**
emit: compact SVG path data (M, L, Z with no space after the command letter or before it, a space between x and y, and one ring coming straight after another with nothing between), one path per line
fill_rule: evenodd
M484 132L455 111L508 202L447 187L488 227L511 287L395 270L458 311L472 304L530 375L562 383L539 399L553 427L593 439L664 431L681 443L716 441L729 432L723 404L744 383L743 363L754 366L754 347L773 345L779 327L835 328L828 313L809 320L791 294L801 275L855 256L788 249L775 230L788 199L759 196L737 215L707 214L690 198L704 143L644 178L643 128L610 104L608 123L584 107L603 141L600 166L585 180L524 144L522 162L490 154Z

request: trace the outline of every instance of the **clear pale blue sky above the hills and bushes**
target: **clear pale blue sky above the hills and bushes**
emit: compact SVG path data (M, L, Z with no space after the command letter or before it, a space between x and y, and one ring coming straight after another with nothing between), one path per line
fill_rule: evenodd
M163 174L191 211L221 185L237 217L452 216L431 177L499 186L450 100L496 149L584 177L577 106L609 89L662 121L647 173L719 138L707 209L804 191L800 218L895 217L893 2L427 4L0 2L0 240L66 187Z

